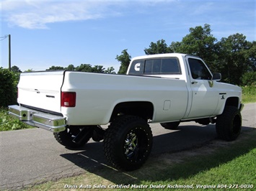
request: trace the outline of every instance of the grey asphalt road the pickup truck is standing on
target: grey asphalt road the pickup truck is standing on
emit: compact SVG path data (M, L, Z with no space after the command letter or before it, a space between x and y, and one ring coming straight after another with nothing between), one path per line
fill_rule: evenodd
M242 117L242 131L255 128L256 103L246 104ZM160 124L150 126L154 135L151 157L191 149L216 139L215 125L187 122L180 124L177 131L166 130ZM0 132L0 190L17 190L86 170L93 172L105 165L102 142L89 141L79 150L69 150L58 144L50 131L43 129Z

